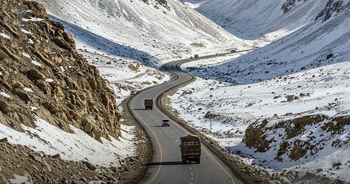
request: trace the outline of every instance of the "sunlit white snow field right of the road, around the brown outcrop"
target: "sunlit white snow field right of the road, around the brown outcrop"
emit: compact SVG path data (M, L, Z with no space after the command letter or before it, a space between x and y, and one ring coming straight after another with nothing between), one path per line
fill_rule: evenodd
M350 157L344 156L350 151L348 147L349 126L346 126L341 135L336 137L320 130L319 127L322 127L326 122L307 127L306 130L309 131L306 131L299 139L303 140L308 135L313 134L316 135L314 142L322 143L323 138L328 138L327 142L323 141L322 144L327 145L327 147L321 148L323 150L314 157L298 161L290 160L286 156L282 158L282 162L276 161L277 150L274 148L279 148L282 141L278 137L275 140L280 141L276 142L272 146L273 148L265 153L247 148L241 140L244 137L245 129L250 124L273 116L277 116L278 119L269 122L267 126L273 126L274 122L276 124L281 120L304 115L348 116L350 112L350 99L348 98L350 95L350 83L348 82L350 61L243 85L222 82L225 80L225 76L222 76L221 81L207 79L208 72L206 70L215 68L221 63L225 63L225 58L200 60L184 64L181 67L185 71L187 67L202 68L191 72L197 77L195 82L183 87L170 97L171 105L180 112L189 125L218 141L221 146L230 149L233 153L239 154L245 158L247 163L259 164L274 172L281 172L284 169L316 172L317 169L322 168L324 170L322 173L327 176L346 179L350 168ZM300 96L300 93L304 95ZM298 99L287 102L287 95L292 94ZM220 115L212 119L212 134L209 132L210 119L205 118L207 112ZM270 136L285 134L283 129L280 132L265 133L265 135ZM344 146L340 148L330 146L337 139L341 140ZM293 140L289 141L293 142ZM318 147L322 147L322 145ZM337 169L333 168L331 166L332 160L339 160L343 165Z

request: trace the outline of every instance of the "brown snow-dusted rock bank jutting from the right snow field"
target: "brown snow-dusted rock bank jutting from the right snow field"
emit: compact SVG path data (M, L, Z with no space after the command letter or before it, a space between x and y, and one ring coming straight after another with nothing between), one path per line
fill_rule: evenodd
M269 120L275 122L269 124ZM282 161L282 155L292 160L311 157L322 150L327 141L333 148L350 144L337 136L342 135L345 126L350 125L349 116L329 117L317 114L276 121L274 117L250 125L245 131L243 142L258 152L277 149L275 159L279 161ZM315 128L310 130L310 127L320 130L313 134Z

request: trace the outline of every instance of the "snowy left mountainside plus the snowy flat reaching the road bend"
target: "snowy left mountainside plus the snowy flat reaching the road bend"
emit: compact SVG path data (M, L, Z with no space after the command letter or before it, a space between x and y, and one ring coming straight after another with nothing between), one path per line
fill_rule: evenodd
M169 77L161 63L195 53L251 48L180 1L37 0L61 22L120 98ZM140 77L143 77L140 79ZM136 79L127 81L128 79Z

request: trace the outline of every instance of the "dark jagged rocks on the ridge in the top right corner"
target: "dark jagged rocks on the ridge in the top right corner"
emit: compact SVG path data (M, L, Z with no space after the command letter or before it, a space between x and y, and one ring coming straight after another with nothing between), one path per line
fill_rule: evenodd
M324 22L331 18L334 13L339 13L346 8L350 8L350 2L344 5L342 0L328 0L326 7L316 16L315 20L322 18L322 22Z

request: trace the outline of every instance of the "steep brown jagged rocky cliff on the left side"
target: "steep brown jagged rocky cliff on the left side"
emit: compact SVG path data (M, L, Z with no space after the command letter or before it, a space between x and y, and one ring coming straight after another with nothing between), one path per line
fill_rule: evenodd
M64 27L35 2L5 0L0 9L0 122L23 131L40 117L67 132L72 125L118 139L116 96Z

